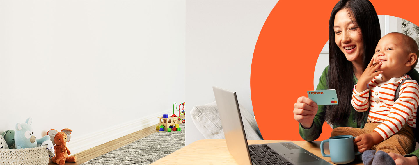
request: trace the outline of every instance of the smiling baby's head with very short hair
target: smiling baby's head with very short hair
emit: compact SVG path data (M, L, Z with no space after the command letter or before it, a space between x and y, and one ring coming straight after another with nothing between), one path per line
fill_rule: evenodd
M373 63L380 61L382 63L377 70L392 72L404 70L408 55L406 45L403 44L403 38L397 34L387 34L378 41L372 58L374 59Z

